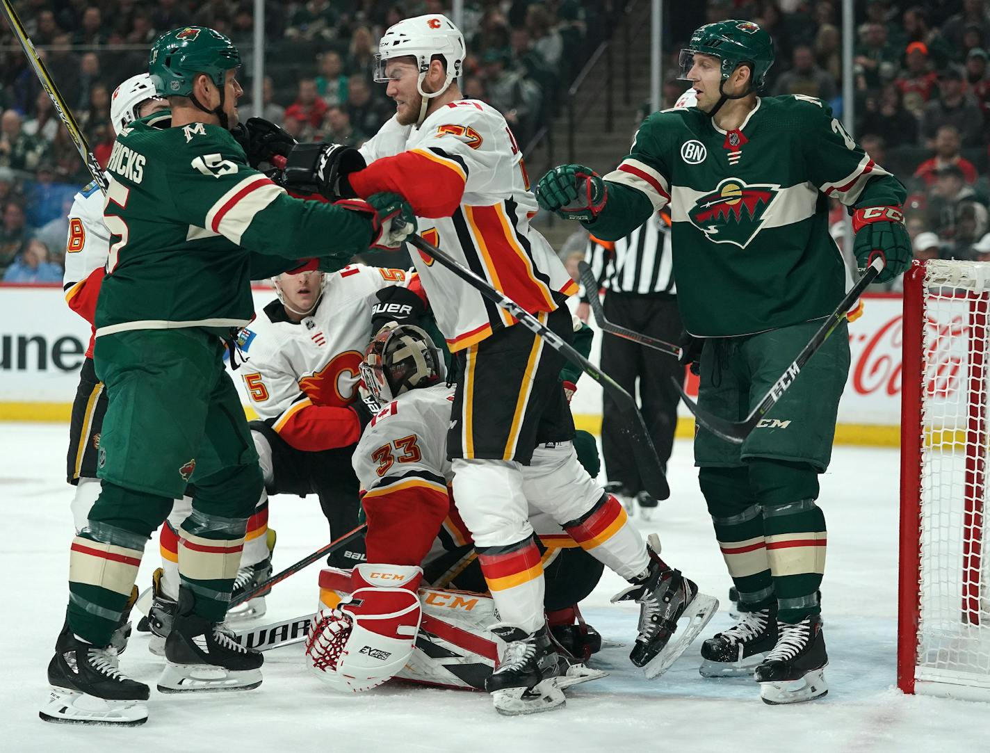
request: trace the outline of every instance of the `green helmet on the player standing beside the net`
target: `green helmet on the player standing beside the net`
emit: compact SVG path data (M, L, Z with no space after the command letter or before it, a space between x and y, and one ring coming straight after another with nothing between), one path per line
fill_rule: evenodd
M681 80L688 80L696 53L710 54L722 61L723 81L740 65L748 65L752 91L762 88L774 58L770 35L751 21L719 21L695 31L688 47L680 52Z

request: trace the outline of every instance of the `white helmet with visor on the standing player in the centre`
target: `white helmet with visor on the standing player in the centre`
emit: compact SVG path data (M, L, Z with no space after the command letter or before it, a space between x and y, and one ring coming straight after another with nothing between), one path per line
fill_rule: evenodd
M446 16L427 14L414 18L403 19L382 35L378 42L378 54L375 55L374 80L386 83L385 63L394 57L411 55L416 58L420 69L420 77L416 88L423 96L423 109L420 113L420 123L426 115L426 101L443 94L453 79L461 73L467 49L464 47L464 35L453 25ZM434 55L444 58L446 65L446 81L435 92L423 91L423 79L430 70L430 61Z

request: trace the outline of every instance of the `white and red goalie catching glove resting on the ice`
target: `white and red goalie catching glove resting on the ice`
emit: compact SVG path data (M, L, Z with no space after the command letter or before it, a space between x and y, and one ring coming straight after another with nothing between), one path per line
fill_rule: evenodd
M351 594L321 610L306 638L306 663L337 690L368 691L397 675L416 644L422 608L419 567L362 563Z

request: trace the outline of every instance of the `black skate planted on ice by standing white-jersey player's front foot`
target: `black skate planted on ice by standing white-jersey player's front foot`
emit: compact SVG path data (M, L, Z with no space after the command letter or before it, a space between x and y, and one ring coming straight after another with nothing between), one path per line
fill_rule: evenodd
M534 633L509 625L492 632L506 647L495 671L485 678L485 691L491 694L495 710L507 716L563 706L564 688L607 674L557 653L546 625Z

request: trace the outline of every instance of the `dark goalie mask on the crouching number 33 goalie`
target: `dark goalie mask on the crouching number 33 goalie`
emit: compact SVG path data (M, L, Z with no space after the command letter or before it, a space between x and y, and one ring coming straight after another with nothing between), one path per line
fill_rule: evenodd
M385 325L364 348L364 386L381 406L404 392L431 387L446 376L444 354L430 335L412 325Z

